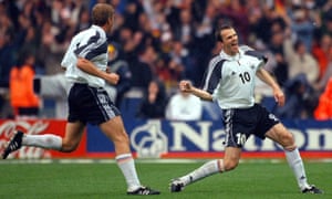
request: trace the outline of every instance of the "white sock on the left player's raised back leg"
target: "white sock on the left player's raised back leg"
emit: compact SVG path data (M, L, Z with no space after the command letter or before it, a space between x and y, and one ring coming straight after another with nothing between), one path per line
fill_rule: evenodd
M24 135L22 145L60 150L62 147L62 138L53 134Z

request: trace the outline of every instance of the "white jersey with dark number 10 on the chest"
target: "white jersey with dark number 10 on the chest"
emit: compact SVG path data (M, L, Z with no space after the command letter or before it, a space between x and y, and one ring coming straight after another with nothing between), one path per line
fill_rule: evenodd
M203 88L212 94L222 109L251 107L256 72L264 63L266 57L247 45L234 56L221 51L210 61Z

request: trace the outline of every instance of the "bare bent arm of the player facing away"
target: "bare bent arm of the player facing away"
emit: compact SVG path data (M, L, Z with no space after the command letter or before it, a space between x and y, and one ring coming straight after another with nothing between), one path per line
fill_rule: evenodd
M111 84L117 84L117 82L118 82L120 77L117 74L107 73L105 71L98 70L96 66L94 66L94 64L92 62L90 62L86 59L79 57L76 65L80 70L84 71L85 73L104 78L105 81L107 81Z

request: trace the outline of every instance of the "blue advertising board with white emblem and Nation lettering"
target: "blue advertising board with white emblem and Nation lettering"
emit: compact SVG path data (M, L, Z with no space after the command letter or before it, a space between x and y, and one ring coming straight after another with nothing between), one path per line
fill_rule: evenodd
M172 122L165 119L124 121L132 149L137 157L212 157L224 151L225 133L220 121ZM300 150L332 157L332 122L283 121ZM270 139L251 136L243 151L282 153ZM114 153L113 144L97 127L87 127L87 153ZM319 154L318 154L319 153Z

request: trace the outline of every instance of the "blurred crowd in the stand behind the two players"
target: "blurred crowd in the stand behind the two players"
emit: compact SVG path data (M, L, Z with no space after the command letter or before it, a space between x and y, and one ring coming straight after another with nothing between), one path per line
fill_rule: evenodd
M123 82L107 85L110 95L121 106L126 93L138 91L137 117L201 118L205 105L178 95L177 84L187 78L200 85L209 59L220 51L214 31L230 23L240 43L269 57L266 67L287 94L284 107L269 107L277 116L332 118L332 98L326 97L332 95L332 0L0 0L2 118L41 116L35 107L42 109L40 100L51 94L65 108L70 83L60 62L71 38L91 25L96 2L116 9L110 70ZM33 60L22 60L28 55ZM20 83L25 91L18 90ZM53 87L58 92L50 93ZM258 87L258 101L271 97ZM189 111L196 113L189 116Z

